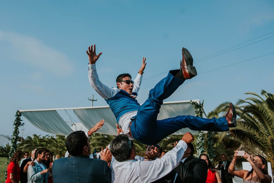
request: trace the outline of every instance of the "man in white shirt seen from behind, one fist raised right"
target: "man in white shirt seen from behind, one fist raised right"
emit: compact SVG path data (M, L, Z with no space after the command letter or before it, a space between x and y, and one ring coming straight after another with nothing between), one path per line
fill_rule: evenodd
M153 182L168 174L180 162L187 143L193 141L190 133L183 135L178 145L161 159L154 161L135 160L136 151L132 141L125 134L115 137L110 143L112 159L112 182Z

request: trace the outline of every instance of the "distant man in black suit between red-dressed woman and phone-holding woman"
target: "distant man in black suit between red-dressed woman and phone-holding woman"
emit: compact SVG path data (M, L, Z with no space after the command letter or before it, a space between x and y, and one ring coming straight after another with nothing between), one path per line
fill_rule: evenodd
M228 173L228 167L231 161L227 160L226 155L221 155L222 161L219 162L218 170L221 170L222 183L232 183L233 176Z

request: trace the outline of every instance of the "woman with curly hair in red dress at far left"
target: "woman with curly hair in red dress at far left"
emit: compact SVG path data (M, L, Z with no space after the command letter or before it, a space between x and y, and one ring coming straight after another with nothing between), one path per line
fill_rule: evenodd
M20 181L20 167L18 162L22 159L24 152L17 150L14 152L10 163L8 165L8 177L5 183L19 183Z

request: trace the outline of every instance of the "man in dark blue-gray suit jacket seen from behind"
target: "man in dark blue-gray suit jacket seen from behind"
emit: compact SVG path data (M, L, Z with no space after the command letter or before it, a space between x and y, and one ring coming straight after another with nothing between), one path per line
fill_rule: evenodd
M54 183L111 182L111 153L108 148L101 153L101 160L90 159L90 144L84 131L75 131L66 139L69 158L55 160L52 165Z

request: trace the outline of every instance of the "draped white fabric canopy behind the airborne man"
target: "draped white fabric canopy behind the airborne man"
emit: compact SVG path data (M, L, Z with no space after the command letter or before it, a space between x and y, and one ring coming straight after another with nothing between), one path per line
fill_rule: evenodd
M161 106L160 113L158 114L158 120L165 118L176 117L179 115L195 115L195 109L190 104L190 100L176 101L176 102L164 102ZM200 100L192 100L192 102L200 103ZM68 110L72 110L78 121L73 120L73 124L69 125L65 121L64 117L61 117L60 113ZM31 124L38 129L55 134L55 135L69 135L73 131L82 130L87 131L93 127L101 119L105 120L104 126L96 133L117 135L116 126L117 123L114 114L109 106L100 107L79 107L79 108L61 108L61 109L34 109L34 110L19 110ZM71 119L70 115L67 113ZM163 129L164 130L164 129ZM173 135L182 135L186 132L196 134L197 131L190 130L189 128L183 128Z

